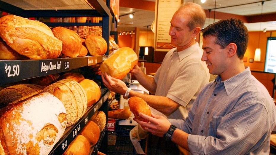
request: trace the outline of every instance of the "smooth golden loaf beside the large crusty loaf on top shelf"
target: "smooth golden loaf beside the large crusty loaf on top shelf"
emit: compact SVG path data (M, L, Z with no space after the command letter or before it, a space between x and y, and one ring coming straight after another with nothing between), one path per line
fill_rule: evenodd
M55 37L62 41L61 53L68 57L77 57L82 49L81 38L78 33L64 27L55 27L52 29Z

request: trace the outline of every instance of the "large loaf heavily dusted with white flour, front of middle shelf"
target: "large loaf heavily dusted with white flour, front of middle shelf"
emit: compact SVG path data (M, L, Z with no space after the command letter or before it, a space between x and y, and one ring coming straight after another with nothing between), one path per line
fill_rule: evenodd
M50 93L34 95L0 110L0 140L5 154L49 154L65 128L65 108Z

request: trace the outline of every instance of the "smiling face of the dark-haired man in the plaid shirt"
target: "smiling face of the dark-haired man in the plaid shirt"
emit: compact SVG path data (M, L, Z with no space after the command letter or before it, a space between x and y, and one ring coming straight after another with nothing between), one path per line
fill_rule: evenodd
M201 60L207 64L209 73L214 75L223 74L227 68L227 49L221 49L216 44L216 37L214 36L203 37L202 49Z

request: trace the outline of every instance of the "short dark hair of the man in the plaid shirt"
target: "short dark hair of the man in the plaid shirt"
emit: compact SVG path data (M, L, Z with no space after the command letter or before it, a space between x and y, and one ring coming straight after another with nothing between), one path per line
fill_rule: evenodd
M216 44L224 49L230 43L237 45L237 55L243 59L248 44L248 30L239 19L229 18L213 23L202 30L203 37L216 37Z

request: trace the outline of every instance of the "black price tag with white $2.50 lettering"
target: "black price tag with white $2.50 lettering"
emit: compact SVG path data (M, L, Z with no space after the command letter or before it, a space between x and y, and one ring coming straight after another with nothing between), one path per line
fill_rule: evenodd
M21 81L21 60L4 60L0 61L0 84L7 84Z

